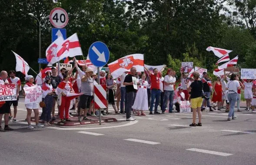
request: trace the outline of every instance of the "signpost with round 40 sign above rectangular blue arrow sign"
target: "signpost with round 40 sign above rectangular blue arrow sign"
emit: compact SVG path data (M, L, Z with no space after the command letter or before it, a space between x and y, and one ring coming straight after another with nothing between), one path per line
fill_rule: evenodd
M52 43L57 40L57 38L62 37L66 40L66 29L59 29L66 26L68 23L68 15L66 11L60 7L54 8L50 12L50 22L54 27L52 28ZM58 75L60 74L60 61L58 62Z

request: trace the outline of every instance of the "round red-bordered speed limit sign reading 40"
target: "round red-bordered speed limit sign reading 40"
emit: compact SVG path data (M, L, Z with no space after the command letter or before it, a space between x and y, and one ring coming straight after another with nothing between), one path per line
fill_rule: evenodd
M50 22L54 27L63 28L68 23L68 15L63 8L56 7L50 12Z

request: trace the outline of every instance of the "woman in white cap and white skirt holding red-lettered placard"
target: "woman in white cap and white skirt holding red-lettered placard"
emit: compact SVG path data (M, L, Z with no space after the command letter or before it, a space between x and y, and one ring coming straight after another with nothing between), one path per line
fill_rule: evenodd
M33 84L34 77L32 75L26 76L25 80L26 80L26 84L23 86L23 95L26 97L26 93L24 91L24 88L32 87L32 86L35 86L35 85ZM34 111L34 114L35 114L35 121L36 121L35 128L43 127L38 122L38 120L39 120L39 110L38 110L39 104L38 103L29 103L29 104L25 104L25 107L27 108L27 123L28 123L27 129L34 129L34 127L31 125L31 113L32 113L32 110Z

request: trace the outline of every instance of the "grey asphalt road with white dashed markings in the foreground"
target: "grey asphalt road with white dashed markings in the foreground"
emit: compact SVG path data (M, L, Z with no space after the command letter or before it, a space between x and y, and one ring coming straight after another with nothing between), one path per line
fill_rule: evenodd
M255 165L256 114L203 112L202 127L189 127L192 113L140 116L126 122L29 130L23 99L15 129L0 132L0 165ZM224 111L224 109L223 109ZM110 108L110 112L113 109ZM2 123L3 125L3 123Z

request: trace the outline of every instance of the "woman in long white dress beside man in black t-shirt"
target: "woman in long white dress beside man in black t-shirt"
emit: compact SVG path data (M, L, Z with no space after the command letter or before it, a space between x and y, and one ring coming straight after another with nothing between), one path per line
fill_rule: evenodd
M140 86L138 86L138 91L137 91L136 98L135 98L134 104L132 106L132 109L138 110L137 115L145 116L146 114L143 111L149 110L148 99L147 99L148 82L145 81L146 75L144 73L141 75L141 77L142 78L140 79ZM140 114L140 111L141 111L141 114Z

